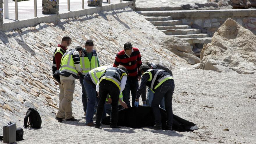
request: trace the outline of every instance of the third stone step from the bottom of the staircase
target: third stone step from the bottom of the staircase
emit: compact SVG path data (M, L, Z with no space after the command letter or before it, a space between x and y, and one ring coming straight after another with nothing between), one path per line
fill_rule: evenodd
M200 29L168 29L161 31L164 32L166 35L189 35L201 33Z

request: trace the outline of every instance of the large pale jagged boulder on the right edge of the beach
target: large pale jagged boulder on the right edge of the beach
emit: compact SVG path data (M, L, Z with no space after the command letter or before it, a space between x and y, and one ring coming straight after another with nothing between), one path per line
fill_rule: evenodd
M204 45L200 58L204 70L255 73L256 35L229 18L214 33L211 44Z

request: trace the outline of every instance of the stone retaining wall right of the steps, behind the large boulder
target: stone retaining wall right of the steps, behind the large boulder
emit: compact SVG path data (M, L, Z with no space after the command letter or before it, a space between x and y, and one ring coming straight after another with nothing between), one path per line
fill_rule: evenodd
M186 10L173 13L173 19L181 19L182 24L190 25L192 28L201 29L202 33L212 36L214 32L226 21L231 18L237 21L246 29L256 34L256 10Z

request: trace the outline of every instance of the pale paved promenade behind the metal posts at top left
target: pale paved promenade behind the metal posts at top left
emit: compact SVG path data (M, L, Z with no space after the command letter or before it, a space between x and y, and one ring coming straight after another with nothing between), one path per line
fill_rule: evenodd
M126 3L127 1L123 1ZM111 4L120 3L120 0L111 0ZM106 0L103 0L102 6L109 5ZM3 5L4 7L4 5ZM9 19L3 19L3 23L15 22L15 3L9 3ZM87 6L87 0L84 1L84 8L93 7ZM82 10L82 0L70 0L70 11ZM59 13L67 13L67 0L59 0ZM37 0L37 17L44 17L42 14L42 0ZM18 20L26 20L34 18L34 1L18 2Z

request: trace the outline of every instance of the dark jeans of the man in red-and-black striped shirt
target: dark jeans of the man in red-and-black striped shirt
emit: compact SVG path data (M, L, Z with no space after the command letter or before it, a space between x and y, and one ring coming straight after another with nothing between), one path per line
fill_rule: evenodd
M139 82L137 77L128 77L126 81L125 89L123 90L123 99L128 107L131 107L130 91L131 91L131 98L132 98L131 100L132 106L134 106L138 88L139 88Z

